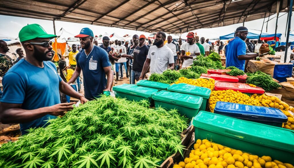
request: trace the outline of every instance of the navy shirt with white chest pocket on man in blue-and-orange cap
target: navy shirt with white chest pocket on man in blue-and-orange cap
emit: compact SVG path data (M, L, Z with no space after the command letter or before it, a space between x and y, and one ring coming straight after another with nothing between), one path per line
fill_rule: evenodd
M106 76L104 67L111 66L106 51L94 46L87 56L85 50L76 55L76 66L83 71L84 92L86 99L100 97L106 89Z

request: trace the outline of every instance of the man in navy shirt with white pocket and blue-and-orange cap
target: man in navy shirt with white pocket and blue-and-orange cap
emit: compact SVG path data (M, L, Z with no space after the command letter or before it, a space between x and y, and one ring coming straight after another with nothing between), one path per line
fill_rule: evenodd
M68 81L72 83L83 71L84 92L87 99L95 99L101 94L110 95L113 72L106 51L93 45L93 31L83 28L79 35L82 50L76 55L76 69ZM107 86L106 79L107 76Z

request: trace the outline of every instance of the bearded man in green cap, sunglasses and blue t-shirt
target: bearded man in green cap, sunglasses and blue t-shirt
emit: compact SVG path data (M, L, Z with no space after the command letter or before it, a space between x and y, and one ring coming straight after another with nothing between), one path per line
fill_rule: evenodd
M21 132L43 127L46 120L64 115L74 103L60 103L59 90L87 102L83 95L61 80L51 60L52 42L56 35L47 34L38 24L24 26L19 40L26 52L4 75L3 95L0 99L0 120L3 124L20 123Z

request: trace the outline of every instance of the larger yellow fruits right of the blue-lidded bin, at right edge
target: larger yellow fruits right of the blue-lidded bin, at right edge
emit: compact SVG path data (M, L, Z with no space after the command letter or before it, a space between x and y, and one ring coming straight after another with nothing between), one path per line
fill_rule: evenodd
M253 94L251 97L259 101L261 106L280 109L288 117L288 122L283 124L283 128L294 130L294 108L292 106L289 106L286 102L281 101L275 96L265 94L258 96L257 94Z

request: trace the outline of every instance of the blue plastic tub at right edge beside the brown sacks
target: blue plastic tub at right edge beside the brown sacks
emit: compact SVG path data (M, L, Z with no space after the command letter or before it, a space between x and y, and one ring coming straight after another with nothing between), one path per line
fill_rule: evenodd
M293 64L276 64L273 78L280 82L286 82L286 78L292 77L292 70Z

